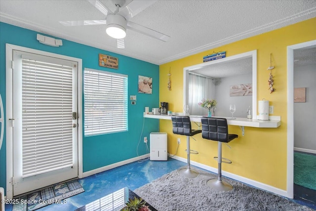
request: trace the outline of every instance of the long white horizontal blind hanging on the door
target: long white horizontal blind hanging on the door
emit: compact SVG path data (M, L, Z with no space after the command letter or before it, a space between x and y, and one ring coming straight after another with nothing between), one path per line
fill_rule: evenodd
M53 60L22 56L22 177L73 165L73 68Z

